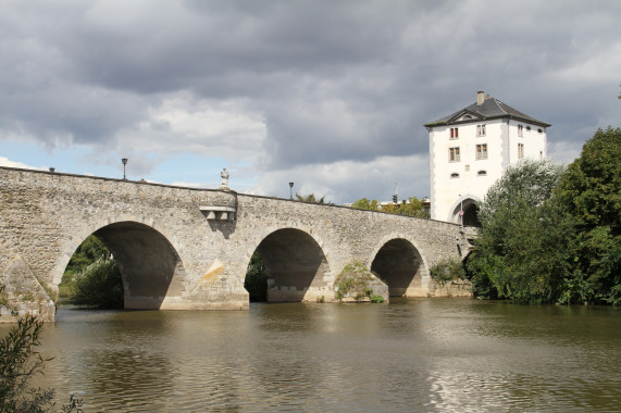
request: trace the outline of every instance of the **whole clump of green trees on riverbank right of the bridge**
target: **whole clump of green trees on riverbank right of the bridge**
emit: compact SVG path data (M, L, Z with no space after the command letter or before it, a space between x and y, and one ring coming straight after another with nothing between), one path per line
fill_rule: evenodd
M566 170L524 160L479 205L473 293L621 304L621 129L597 130Z

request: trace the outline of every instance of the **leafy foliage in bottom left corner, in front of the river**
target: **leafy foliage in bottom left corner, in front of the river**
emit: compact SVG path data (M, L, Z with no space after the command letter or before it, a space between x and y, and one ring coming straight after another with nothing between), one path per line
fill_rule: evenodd
M47 412L54 406L53 389L35 388L28 380L44 374L45 359L36 350L44 322L33 315L17 321L0 340L0 412ZM63 412L82 412L82 400L71 395Z

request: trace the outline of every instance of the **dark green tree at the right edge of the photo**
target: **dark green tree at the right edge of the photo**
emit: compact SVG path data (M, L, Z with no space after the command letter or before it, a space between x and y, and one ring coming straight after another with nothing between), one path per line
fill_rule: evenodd
M574 218L564 301L621 304L621 128L598 129L557 191Z

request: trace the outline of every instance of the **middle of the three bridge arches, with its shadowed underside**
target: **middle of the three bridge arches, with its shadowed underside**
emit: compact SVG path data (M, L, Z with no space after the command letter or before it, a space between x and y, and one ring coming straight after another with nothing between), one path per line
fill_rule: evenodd
M295 227L273 229L257 243L268 273L268 301L315 301L331 291L327 256L310 231ZM249 261L249 259L248 259Z

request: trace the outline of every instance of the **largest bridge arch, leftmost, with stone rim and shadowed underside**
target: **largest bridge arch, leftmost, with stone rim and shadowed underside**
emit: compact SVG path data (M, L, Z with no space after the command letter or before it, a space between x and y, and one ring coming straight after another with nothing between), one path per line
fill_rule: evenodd
M182 296L186 276L177 249L153 223L127 218L107 220L74 235L54 270L55 286L71 256L89 235L99 238L119 264L125 309L160 309L166 297Z

